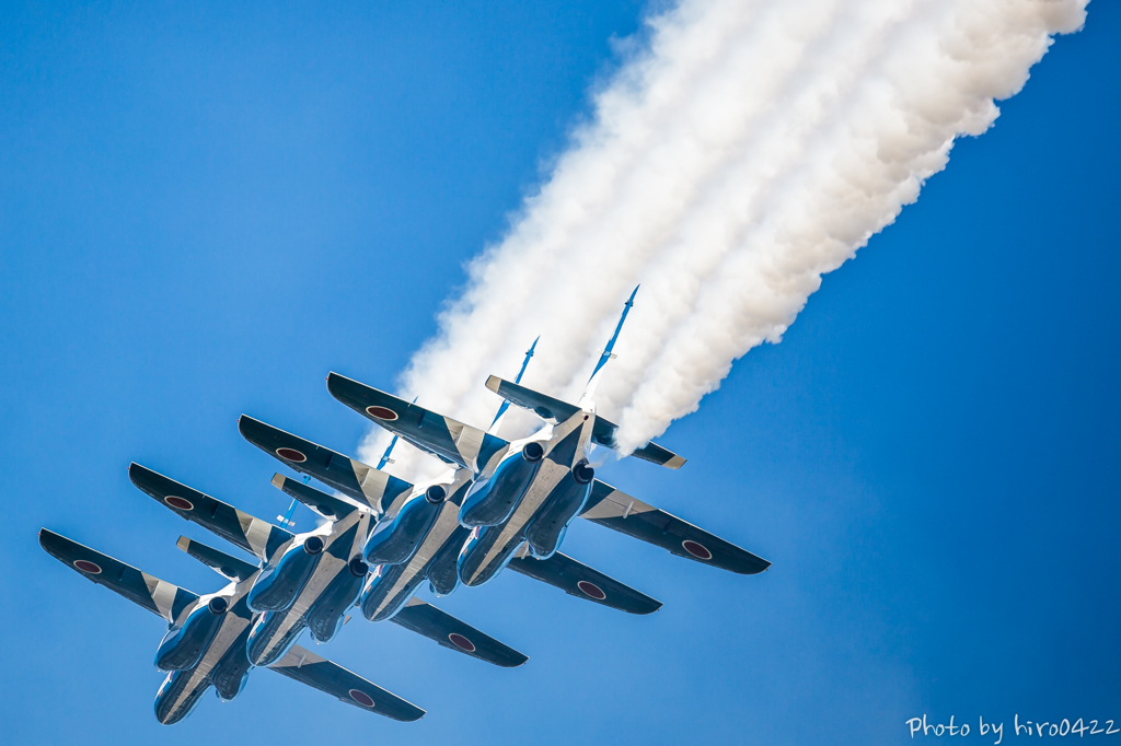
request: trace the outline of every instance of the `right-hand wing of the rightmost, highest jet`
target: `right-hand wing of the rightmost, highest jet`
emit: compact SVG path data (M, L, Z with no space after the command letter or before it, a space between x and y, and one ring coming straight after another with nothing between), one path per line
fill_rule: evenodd
M740 575L754 575L770 567L770 562L761 557L647 505L599 479L592 484L592 494L580 516L661 547L671 554Z

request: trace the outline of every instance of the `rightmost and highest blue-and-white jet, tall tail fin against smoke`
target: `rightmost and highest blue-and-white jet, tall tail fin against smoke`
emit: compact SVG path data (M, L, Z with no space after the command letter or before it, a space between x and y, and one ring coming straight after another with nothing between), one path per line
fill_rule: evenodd
M458 577L465 585L487 582L518 559L527 560L525 568L541 568L556 556L576 515L733 572L752 575L770 566L595 478L589 451L593 444L614 448L618 426L596 414L594 391L633 300L631 293L580 404L497 376L487 381L487 388L506 402L545 420L540 430L513 441L499 438L494 425L483 431L337 373L327 376L327 390L335 399L396 437L470 472L471 483L458 511L461 526L472 530L457 559ZM655 442L631 455L675 469L685 463Z

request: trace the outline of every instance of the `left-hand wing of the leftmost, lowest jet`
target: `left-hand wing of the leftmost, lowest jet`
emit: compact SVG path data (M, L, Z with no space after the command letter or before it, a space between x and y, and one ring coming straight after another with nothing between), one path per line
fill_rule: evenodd
M63 565L68 565L86 579L99 586L105 586L133 604L145 607L152 614L158 614L169 623L178 618L183 609L198 600L196 594L185 588L173 586L166 580L160 580L76 541L71 541L54 531L40 529L39 545L48 554Z

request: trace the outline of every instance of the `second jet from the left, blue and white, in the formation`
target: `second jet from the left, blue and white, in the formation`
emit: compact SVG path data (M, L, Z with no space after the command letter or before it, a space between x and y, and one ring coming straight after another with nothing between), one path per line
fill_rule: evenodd
M261 562L245 597L247 607L259 613L247 641L249 660L254 665L280 660L305 628L316 642L334 638L369 571L360 556L372 516L369 510L277 475L274 486L325 520L314 531L294 534L139 464L129 466L129 478L180 517L202 525ZM419 599L400 609L393 621L444 647L489 663L516 666L528 660Z

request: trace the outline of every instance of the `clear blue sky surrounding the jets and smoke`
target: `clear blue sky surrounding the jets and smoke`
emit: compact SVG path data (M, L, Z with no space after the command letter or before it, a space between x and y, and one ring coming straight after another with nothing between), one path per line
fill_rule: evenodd
M1121 8L1096 2L784 342L666 433L684 469L610 467L770 571L577 522L565 551L660 612L504 575L441 605L521 669L361 618L317 651L427 708L418 724L263 671L156 722L163 623L36 531L216 588L174 547L214 540L135 489L129 461L271 517L275 464L240 413L355 450L364 421L323 376L392 385L641 13L0 8L10 743L868 744L909 740L924 712L1121 720Z

